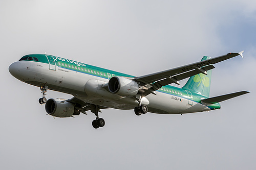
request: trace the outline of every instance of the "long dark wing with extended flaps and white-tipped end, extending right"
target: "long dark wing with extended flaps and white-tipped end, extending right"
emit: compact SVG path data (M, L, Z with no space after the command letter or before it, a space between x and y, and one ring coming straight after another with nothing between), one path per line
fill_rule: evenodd
M197 75L199 73L207 74L207 70L215 68L212 64L216 64L218 62L241 56L243 57L243 52L240 53L228 53L227 55L223 55L220 57L210 58L207 60L199 61L193 64L184 65L181 67L168 69L165 71L156 72L153 74L139 76L134 78L135 81L139 82L141 85L141 89L145 90L144 95L153 93L158 90L162 86L176 83L179 84L179 80L186 79L188 77Z

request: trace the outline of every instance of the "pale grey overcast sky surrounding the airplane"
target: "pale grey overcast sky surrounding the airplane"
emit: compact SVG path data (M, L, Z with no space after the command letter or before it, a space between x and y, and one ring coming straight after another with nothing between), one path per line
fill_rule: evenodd
M0 169L255 169L256 1L0 1ZM220 110L181 115L102 110L56 118L38 87L8 71L47 53L141 76L244 52L215 65ZM181 86L186 81L181 82ZM47 98L71 98L54 91Z

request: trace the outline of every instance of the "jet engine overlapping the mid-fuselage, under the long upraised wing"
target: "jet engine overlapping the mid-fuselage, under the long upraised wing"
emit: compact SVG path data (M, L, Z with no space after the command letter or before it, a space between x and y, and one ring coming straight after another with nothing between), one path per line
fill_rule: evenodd
M123 77L111 78L108 86L110 92L121 96L133 96L139 92L139 85L137 82Z

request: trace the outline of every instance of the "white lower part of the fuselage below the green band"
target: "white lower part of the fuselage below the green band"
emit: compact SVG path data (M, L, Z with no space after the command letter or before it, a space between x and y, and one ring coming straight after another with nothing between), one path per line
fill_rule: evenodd
M49 89L69 93L76 98L95 105L115 109L134 109L138 102L133 96L123 97L109 92L104 84L109 79L100 76L85 74L73 69L66 69L40 62L17 61L10 66L13 76L17 79L35 86L48 85ZM180 89L183 93L185 90ZM156 91L156 95L149 94L141 99L143 105L147 105L148 112L162 114L181 114L202 112L211 110L205 105L193 101L188 96L177 96Z

